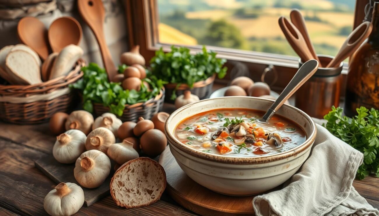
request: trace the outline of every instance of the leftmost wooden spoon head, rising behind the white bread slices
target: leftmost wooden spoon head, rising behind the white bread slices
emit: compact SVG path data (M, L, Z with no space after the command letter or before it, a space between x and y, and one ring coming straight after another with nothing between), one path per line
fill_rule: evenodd
M22 18L17 25L17 35L20 41L36 51L42 60L49 56L47 29L39 19L35 17Z

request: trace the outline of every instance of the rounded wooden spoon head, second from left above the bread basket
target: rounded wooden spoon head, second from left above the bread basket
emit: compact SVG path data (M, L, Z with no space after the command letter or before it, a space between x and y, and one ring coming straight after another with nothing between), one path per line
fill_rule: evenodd
M82 31L74 18L60 17L51 23L48 35L53 52L60 52L70 44L79 45Z

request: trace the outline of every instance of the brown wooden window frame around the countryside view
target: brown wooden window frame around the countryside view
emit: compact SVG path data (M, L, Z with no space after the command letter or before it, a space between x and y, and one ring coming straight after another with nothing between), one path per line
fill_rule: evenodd
M354 9L355 28L365 17L364 8L370 0L356 0ZM127 14L127 34L129 47L139 45L140 53L145 59L151 59L155 51L163 48L164 51L169 51L169 44L158 43L158 13L157 0L125 0L125 11ZM186 46L195 53L201 50L201 46ZM298 57L284 56L279 54L270 54L256 51L245 51L238 49L222 48L215 46L207 46L207 48L218 52L218 57L228 60L228 74L223 80L216 79L215 82L226 84L233 74L230 74L230 69L233 68L233 63L242 62L249 69L250 76L254 80L260 80L260 77L269 65L274 66L277 73L277 82L274 83L272 89L281 91L291 80L298 69ZM348 64L344 64L341 79L345 83ZM345 85L341 85L341 96L345 94Z

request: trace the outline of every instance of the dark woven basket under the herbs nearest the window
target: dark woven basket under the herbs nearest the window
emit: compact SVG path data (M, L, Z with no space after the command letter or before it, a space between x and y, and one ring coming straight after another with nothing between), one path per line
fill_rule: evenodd
M202 80L199 82L196 82L193 84L193 88L189 88L187 84L182 84L176 89L176 96L180 96L183 94L184 91L189 90L191 91L191 94L196 95L199 97L200 100L208 98L212 93L212 86L213 81L215 81L216 74L213 74L213 76L208 77L206 80ZM164 102L167 103L174 103L174 100L171 100L172 92L175 90L177 84L175 83L168 83L164 85L164 88L166 88L166 98L164 99Z

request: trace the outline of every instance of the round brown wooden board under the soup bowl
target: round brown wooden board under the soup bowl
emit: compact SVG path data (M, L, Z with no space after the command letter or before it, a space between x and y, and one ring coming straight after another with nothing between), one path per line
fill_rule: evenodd
M179 167L169 146L159 158L167 176L167 190L183 207L202 215L252 215L254 196L226 196L208 190L189 178Z

